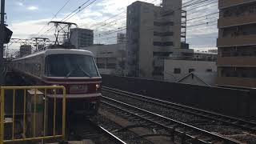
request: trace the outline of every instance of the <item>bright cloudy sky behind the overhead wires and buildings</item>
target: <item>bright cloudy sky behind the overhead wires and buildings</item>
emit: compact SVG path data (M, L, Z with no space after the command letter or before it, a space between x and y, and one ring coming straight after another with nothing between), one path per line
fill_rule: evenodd
M118 30L126 26L126 6L129 6L136 0L6 0L6 24L14 32L12 38L33 38L46 37L54 39L54 30L51 31L52 25L47 25L50 20L59 21L65 18L68 14L86 3L86 8L81 10L74 17L68 19L67 22L75 22L79 27L89 28L94 30L95 43L114 43L115 34L104 35L108 30ZM189 0L183 0L186 3ZM210 2L214 2L212 0ZM58 10L66 6L57 14ZM93 2L90 4L90 2ZM161 0L142 0L142 2L153 2L159 5ZM196 6L186 7L187 19L197 18L206 14L211 14L218 11L218 3L202 3L199 8ZM87 6L89 5L90 6ZM198 5L200 6L200 5ZM190 10L192 8L192 10ZM195 9L196 8L196 9ZM54 17L54 14L57 14ZM114 15L118 17L105 21ZM190 20L187 23L187 41L190 48L196 50L213 49L216 46L216 38L218 38L217 29L218 14L209 17ZM206 24L206 22L210 22ZM100 25L99 25L100 24ZM198 24L203 24L196 26ZM50 32L47 32L50 30ZM125 32L122 30L120 32ZM42 35L44 34L44 35ZM11 49L17 49L18 45L14 44Z

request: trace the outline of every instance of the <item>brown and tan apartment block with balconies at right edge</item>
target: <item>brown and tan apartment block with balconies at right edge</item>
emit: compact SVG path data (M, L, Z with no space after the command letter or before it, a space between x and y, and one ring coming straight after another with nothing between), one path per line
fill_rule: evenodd
M256 1L219 0L218 86L256 87Z

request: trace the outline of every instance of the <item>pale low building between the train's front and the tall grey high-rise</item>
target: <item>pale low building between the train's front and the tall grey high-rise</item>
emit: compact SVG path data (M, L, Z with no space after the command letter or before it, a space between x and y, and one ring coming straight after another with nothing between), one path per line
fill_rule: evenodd
M100 74L126 75L126 44L94 45L82 49L94 54Z

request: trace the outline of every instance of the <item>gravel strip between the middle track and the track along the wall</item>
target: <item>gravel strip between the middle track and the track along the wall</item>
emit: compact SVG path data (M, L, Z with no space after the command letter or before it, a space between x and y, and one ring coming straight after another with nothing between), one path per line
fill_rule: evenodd
M255 132L242 130L241 128L234 126L227 126L222 122L214 122L206 118L200 118L192 114L182 113L178 110L170 110L162 106L155 106L153 104L150 104L149 102L142 102L134 98L127 98L106 91L103 91L103 95L109 98L114 98L121 102L126 102L133 106L138 106L145 110L150 110L156 114L161 114L163 116L172 118L179 122L184 122L192 126L197 126L198 128L201 128L203 130L208 130L210 132L215 132L217 134L226 135L227 137L237 139L241 142L256 143Z

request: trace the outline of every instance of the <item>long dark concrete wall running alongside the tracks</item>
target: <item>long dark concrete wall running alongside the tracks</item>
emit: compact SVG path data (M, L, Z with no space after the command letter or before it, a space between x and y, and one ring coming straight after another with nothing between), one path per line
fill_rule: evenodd
M204 110L237 117L256 118L256 90L231 90L218 87L191 86L141 78L102 75L103 86L145 94Z

